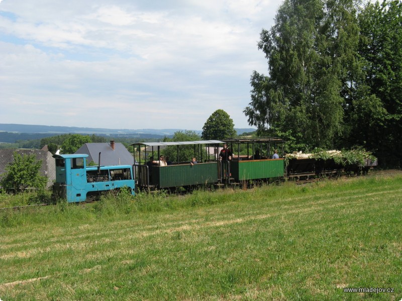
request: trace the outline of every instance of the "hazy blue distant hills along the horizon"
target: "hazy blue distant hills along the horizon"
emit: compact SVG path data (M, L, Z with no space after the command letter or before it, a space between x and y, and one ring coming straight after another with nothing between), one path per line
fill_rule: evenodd
M0 123L0 142L14 143L16 140L40 139L44 137L54 136L58 134L88 134L114 137L134 137L134 138L154 138L162 139L163 137L172 137L176 131L184 131L179 128L163 128L163 129L110 129L95 127L71 127L71 126L54 126L54 125L30 125L15 123ZM254 128L235 128L238 135L244 132L254 131ZM201 134L202 130L193 130L197 134Z

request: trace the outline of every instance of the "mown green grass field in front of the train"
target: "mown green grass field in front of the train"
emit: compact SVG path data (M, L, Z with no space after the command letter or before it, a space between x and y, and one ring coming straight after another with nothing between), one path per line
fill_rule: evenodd
M0 298L398 301L401 214L400 175L0 212Z

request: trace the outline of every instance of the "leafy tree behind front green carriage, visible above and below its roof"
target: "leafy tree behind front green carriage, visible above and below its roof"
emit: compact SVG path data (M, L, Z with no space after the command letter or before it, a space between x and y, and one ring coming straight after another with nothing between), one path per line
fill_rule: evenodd
M185 130L183 131L176 131L173 135L173 138L164 138L164 141L197 141L200 140L200 136L192 130ZM179 152L179 161L180 162L186 162L186 161L191 161L192 157L196 157L197 160L201 159L201 153L203 159L207 159L208 155L205 150L205 145L204 146L199 146L199 145L180 145L178 147L178 152ZM163 155L168 156L170 161L176 161L177 160L177 146L172 145L172 146L167 146L163 150Z

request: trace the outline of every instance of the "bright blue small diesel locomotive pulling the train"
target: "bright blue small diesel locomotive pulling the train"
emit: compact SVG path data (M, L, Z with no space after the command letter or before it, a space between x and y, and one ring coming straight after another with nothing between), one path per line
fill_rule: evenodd
M132 166L87 166L86 157L86 154L53 156L56 160L55 199L65 199L69 203L90 202L104 192L123 187L135 195Z

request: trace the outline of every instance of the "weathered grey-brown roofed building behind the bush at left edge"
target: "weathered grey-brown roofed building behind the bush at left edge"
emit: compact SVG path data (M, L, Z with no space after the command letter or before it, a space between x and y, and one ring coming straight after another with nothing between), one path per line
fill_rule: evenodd
M47 149L0 149L0 177L6 173L6 167L13 163L14 152L21 156L35 155L37 161L42 161L40 174L47 177L46 187L49 188L53 185L56 180L56 166L52 153L48 152Z

